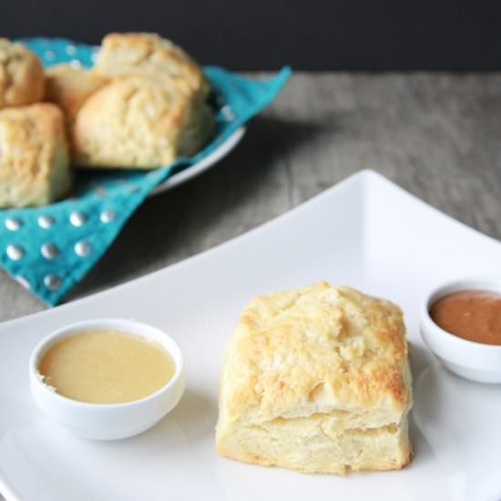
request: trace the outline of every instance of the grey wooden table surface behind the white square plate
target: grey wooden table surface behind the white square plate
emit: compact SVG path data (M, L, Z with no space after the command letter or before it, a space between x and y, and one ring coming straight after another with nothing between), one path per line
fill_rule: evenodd
M229 240L360 169L501 239L501 74L295 74L229 157L147 200L67 301ZM0 298L0 321L45 308L5 272Z

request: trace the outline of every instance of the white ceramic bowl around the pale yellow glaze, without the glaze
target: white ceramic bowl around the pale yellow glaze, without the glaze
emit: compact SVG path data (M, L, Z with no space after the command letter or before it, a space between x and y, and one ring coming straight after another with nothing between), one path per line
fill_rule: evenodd
M57 394L43 382L38 364L53 344L88 330L128 332L160 343L175 363L172 379L158 392L125 404L88 404ZM29 378L31 394L42 411L76 435L95 440L116 440L148 430L178 404L185 388L183 356L178 344L156 327L121 319L77 322L51 333L31 354Z

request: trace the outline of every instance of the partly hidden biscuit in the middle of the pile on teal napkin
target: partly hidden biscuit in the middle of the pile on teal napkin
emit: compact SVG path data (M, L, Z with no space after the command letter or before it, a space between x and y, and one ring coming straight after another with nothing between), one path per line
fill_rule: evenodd
M61 107L71 124L87 97L107 83L108 78L87 68L60 64L46 68L45 100Z

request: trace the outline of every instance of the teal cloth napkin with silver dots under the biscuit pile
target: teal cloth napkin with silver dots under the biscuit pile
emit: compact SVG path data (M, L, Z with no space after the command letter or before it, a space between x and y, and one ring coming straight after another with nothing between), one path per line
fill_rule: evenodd
M96 47L56 38L21 40L45 66L92 66ZM207 157L284 87L291 69L254 80L217 66L204 72L214 89L217 134L192 158L150 171L81 171L69 199L41 208L0 210L0 264L49 305L62 300L115 240L158 183Z

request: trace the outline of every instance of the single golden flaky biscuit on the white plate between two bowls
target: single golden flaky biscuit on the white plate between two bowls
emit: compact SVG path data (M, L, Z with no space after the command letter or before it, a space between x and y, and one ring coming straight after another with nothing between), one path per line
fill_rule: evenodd
M225 349L217 449L301 472L397 469L411 406L397 306L325 282L266 294Z

